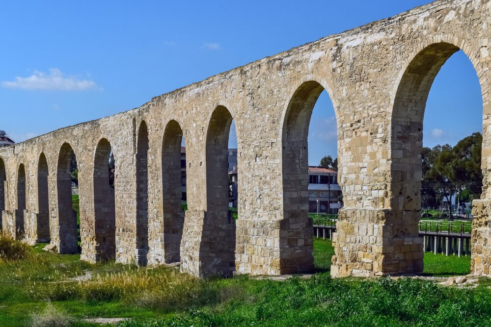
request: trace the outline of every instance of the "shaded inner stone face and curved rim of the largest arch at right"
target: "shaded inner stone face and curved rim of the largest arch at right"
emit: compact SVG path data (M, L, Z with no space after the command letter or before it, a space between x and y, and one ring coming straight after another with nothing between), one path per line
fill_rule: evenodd
M475 57L470 55L468 47L463 42L460 47L455 44L459 44L458 40L445 37L437 38L434 43L425 43L410 57L398 78L390 109L391 155L387 190L391 212L385 215L385 228L388 230L384 232L391 237L384 239L383 245L387 248L410 245L410 250L385 255L382 260L385 274L417 273L423 269L423 240L418 234L418 222L421 217L421 151L426 101L436 75L455 52L463 49L476 69Z

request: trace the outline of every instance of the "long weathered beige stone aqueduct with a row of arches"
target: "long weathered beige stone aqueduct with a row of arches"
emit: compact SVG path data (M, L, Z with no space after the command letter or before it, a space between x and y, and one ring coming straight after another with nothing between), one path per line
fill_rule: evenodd
M70 160L79 167L82 260L181 262L196 276L313 268L307 131L325 89L335 109L345 207L333 276L420 272L422 122L431 84L463 50L483 96L482 199L471 271L491 275L491 0L438 0L156 97L139 108L0 149L3 230L77 251ZM238 135L239 219L228 219L227 140ZM188 206L180 206L185 137ZM107 160L116 160L114 190ZM4 194L4 197L1 194ZM3 200L5 199L5 200Z

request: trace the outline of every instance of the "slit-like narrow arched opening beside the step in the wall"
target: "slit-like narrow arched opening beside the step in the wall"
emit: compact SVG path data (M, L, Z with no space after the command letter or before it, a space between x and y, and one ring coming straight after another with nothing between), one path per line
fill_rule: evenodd
M136 144L136 263L147 264L148 254L148 129L144 121Z

